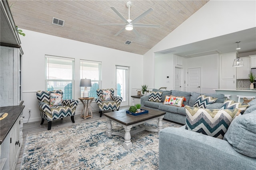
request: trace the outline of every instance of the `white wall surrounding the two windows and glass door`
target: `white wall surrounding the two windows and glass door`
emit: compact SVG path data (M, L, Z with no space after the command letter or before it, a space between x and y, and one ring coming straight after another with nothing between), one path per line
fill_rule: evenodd
M74 99L80 97L80 59L102 62L102 88L115 88L115 65L130 67L130 94L136 95L136 89L142 83L142 55L128 53L43 33L22 29L25 37L20 37L24 51L22 61L22 88L24 100L24 123L28 121L28 108L32 109L29 122L41 120L38 110L36 91L44 90L45 55L70 57L75 59ZM136 62L135 62L136 61ZM129 97L131 103L131 98ZM96 103L93 109L98 109ZM78 104L76 114L80 114L82 104Z

